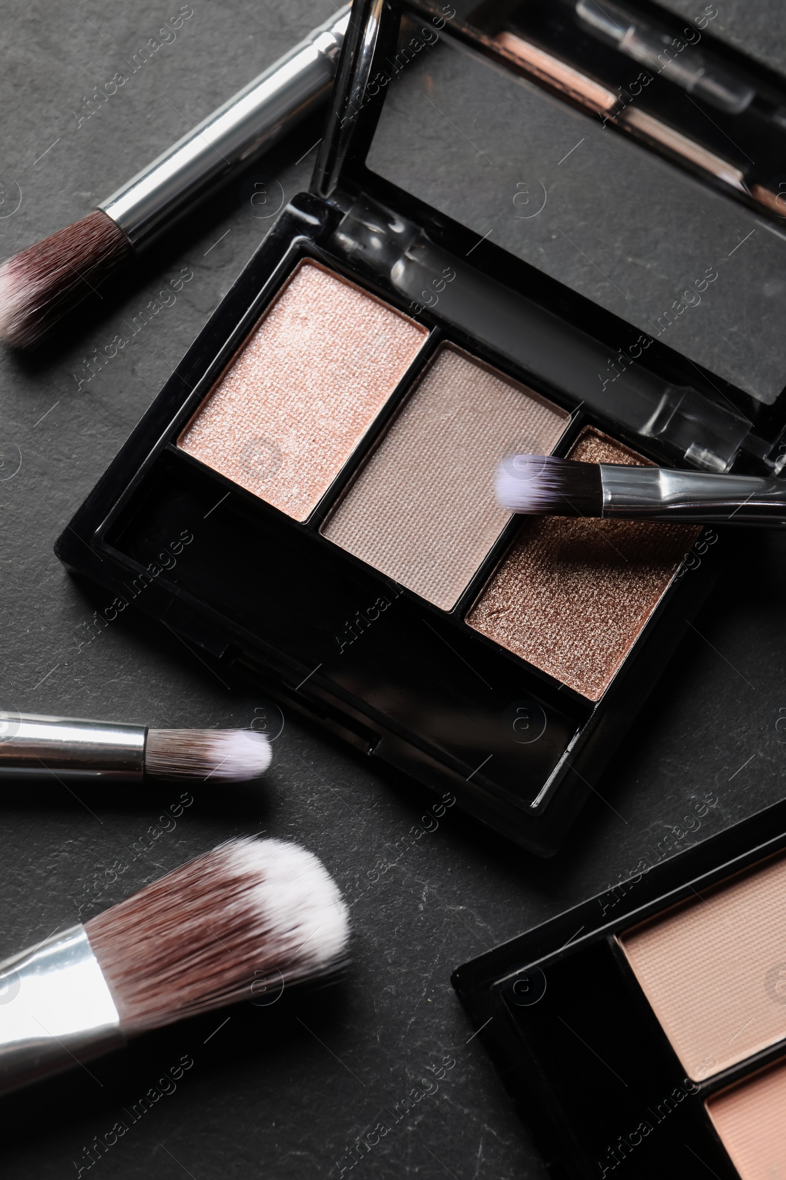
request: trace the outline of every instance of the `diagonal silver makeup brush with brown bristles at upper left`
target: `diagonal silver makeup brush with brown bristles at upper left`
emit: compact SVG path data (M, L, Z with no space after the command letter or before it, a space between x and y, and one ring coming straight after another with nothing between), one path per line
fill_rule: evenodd
M120 263L267 151L326 99L350 5L315 28L98 209L0 267L0 337L44 336Z

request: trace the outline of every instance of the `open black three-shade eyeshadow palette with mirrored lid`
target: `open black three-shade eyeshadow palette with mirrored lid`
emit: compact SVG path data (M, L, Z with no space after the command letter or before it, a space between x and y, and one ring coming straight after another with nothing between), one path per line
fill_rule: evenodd
M510 518L495 466L527 451L780 470L786 257L774 209L557 93L496 39L530 37L516 11L502 30L483 12L355 4L311 191L57 552L548 856L729 540ZM625 191L607 183L595 208L582 169L601 150ZM646 211L653 168L671 188ZM679 267L656 216L694 236Z

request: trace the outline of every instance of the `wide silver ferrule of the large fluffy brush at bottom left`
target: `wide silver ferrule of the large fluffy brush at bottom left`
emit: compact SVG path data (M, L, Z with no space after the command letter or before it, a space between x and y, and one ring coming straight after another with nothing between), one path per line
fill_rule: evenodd
M0 963L0 1094L125 1044L84 926Z

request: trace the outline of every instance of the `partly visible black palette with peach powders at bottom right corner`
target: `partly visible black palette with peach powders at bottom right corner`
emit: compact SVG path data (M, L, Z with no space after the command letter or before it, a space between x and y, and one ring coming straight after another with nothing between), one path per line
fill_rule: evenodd
M557 1180L786 1175L786 804L639 868L454 986Z

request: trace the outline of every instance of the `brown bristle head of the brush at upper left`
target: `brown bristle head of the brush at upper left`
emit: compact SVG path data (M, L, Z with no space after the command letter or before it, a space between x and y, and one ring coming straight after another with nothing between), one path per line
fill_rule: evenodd
M100 210L15 254L0 267L0 337L35 343L128 254L128 238Z

